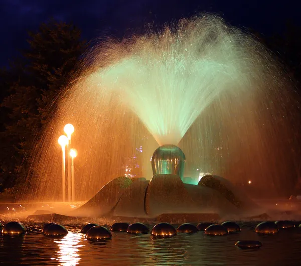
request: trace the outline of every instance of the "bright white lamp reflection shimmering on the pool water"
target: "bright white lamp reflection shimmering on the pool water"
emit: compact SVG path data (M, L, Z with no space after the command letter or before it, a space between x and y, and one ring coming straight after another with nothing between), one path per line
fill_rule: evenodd
M79 257L79 248L83 246L78 244L81 240L84 240L81 233L68 233L59 241L55 240L54 242L59 246L59 250L57 251L58 258L51 259L58 260L60 262L59 265L78 265L81 259Z

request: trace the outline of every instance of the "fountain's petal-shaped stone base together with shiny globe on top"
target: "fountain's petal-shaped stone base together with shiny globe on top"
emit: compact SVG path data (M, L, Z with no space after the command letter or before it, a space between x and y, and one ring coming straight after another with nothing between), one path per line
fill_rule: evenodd
M207 175L197 185L184 183L185 155L177 146L160 146L151 162L150 181L123 176L113 179L75 214L131 219L160 216L170 219L175 215L191 219L193 215L203 215L208 220L262 213L251 199L222 177Z

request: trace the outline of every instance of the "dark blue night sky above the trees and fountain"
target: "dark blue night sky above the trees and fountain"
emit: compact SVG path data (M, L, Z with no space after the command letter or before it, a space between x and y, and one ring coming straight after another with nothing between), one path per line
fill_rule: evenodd
M263 34L281 32L287 20L301 24L296 0L0 0L0 66L26 47L27 31L53 17L73 22L87 40L122 37L146 23L163 24L199 12L215 12L230 24Z

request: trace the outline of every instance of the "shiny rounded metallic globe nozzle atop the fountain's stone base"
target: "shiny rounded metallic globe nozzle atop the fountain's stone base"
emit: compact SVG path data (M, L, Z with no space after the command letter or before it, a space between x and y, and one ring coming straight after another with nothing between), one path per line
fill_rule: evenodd
M177 174L183 180L185 155L183 151L174 145L163 145L155 150L150 159L153 175Z

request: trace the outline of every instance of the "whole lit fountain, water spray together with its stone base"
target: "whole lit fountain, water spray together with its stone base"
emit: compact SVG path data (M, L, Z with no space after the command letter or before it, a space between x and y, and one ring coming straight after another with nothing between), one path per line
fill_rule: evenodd
M24 195L61 200L56 139L70 122L80 154L75 194L85 201L72 215L260 214L232 182L251 179L258 190L276 190L292 168L288 144L278 141L293 130L279 123L290 100L279 69L251 36L207 14L95 46L33 150ZM141 139L148 140L137 151ZM125 171L137 152L136 177L146 179ZM185 183L194 165L214 174Z

